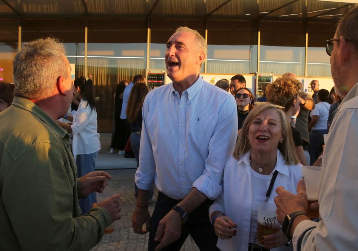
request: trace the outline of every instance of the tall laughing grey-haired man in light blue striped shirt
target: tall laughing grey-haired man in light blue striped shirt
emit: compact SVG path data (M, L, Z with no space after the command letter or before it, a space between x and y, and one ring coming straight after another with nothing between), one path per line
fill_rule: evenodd
M207 44L198 32L179 27L166 46L173 82L150 91L143 104L132 226L135 233L150 231L148 250L180 250L189 234L200 250L218 250L208 208L222 192L225 161L234 149L236 101L200 76ZM159 194L150 218L154 183Z

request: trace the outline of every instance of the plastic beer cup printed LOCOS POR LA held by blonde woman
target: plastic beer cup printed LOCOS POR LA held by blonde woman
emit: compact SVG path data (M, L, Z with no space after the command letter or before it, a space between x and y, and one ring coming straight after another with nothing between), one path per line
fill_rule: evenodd
M257 206L257 240L266 235L271 235L279 231L273 226L276 224L276 205L271 203L261 203Z

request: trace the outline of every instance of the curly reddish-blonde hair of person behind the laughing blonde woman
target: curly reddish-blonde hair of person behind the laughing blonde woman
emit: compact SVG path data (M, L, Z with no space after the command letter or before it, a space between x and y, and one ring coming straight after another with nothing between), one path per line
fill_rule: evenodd
M286 111L291 109L292 102L302 89L302 84L294 78L278 77L266 87L267 102L284 106Z

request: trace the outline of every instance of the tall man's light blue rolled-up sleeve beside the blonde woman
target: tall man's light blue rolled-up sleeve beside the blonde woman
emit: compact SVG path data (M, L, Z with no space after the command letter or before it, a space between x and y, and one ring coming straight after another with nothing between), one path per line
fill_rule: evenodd
M221 194L224 165L234 150L237 128L236 101L233 96L228 96L219 109L218 122L209 141L204 173L193 183L193 187L209 199L216 199Z

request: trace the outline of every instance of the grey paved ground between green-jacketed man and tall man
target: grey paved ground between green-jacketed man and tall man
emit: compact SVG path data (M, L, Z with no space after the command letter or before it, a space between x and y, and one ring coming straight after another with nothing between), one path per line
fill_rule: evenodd
M131 216L135 208L134 197L134 174L136 170L135 159L124 158L123 155L117 153L109 153L110 134L101 133L101 151L96 160L97 169L106 170L111 176L112 180L108 182L106 190L121 194L123 201L122 218L115 222L115 231L103 236L102 241L92 251L145 251L148 246L149 234L137 235L133 232L131 227ZM107 156L107 157L106 157ZM116 166L119 169L113 169ZM155 195L158 190L155 189ZM149 206L149 212L152 213L154 205ZM197 251L199 248L195 245L193 239L189 236L185 241L181 250Z

